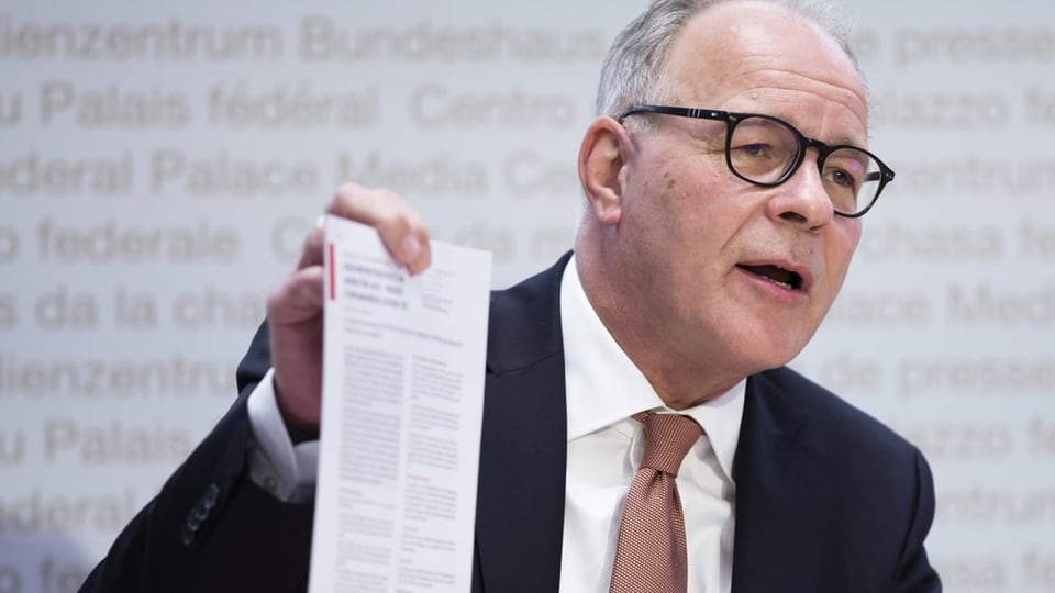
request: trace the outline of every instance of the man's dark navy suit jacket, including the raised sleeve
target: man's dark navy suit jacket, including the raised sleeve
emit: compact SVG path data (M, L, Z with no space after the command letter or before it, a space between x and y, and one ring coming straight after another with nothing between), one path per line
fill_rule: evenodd
M566 264L491 296L474 591L557 590ZM235 404L82 591L303 589L312 505L281 504L247 478L245 400L268 367L265 326L238 369ZM941 591L923 548L934 512L923 457L795 371L748 379L733 473L733 593Z

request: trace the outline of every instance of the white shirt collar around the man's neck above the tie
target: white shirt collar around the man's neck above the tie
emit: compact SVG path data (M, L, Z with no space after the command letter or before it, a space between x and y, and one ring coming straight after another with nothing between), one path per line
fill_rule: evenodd
M645 410L675 412L664 405L597 316L579 282L574 255L560 281L560 321L569 441ZM676 412L692 417L703 427L730 480L740 441L746 384L745 379L713 400Z

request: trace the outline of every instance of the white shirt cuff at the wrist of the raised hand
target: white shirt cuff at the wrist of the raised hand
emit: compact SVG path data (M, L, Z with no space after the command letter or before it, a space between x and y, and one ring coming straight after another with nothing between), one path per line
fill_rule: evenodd
M247 403L249 429L249 478L276 499L307 503L315 496L319 477L319 441L293 445L282 422L268 370Z

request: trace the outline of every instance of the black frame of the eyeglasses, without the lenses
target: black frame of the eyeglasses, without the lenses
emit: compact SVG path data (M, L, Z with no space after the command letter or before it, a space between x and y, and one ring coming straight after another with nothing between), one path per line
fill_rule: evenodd
M662 115L677 115L679 118L692 118L696 120L713 120L719 122L725 122L725 165L729 167L729 170L740 179L743 179L748 183L764 187L764 188L775 188L784 183L788 179L791 179L791 176L793 176L795 172L799 170L799 167L802 165L802 161L806 159L806 150L808 148L817 149L817 168L820 171L824 170L824 159L826 159L829 155L831 155L835 150L839 150L840 148L852 148L854 150L858 150L860 153L868 155L868 157L875 160L876 165L879 166L879 170L869 174L865 178L865 181L875 181L877 180L876 176L878 176L879 186L876 188L876 194L873 195L871 202L869 202L865 208L857 211L856 213L848 214L846 212L840 212L839 210L834 210L834 205L833 205L833 211L835 212L835 214L839 214L840 216L843 216L845 219L858 219L860 216L864 216L866 212L871 210L871 206L876 205L876 202L879 200L879 194L882 193L882 188L887 187L887 183L889 183L890 181L893 181L893 177L895 177L893 169L888 167L886 163L880 160L879 157L877 157L873 153L859 146L854 146L852 144L832 145L832 144L823 143L815 138L807 137L804 134L799 132L799 130L793 125L781 120L780 118L774 118L773 115L765 115L763 113L736 113L731 111L720 111L714 109L702 109L702 108L682 108L682 107L669 107L669 105L632 105L626 111L624 111L622 115L618 118L619 123L623 123L623 120L625 120L628 116L633 115L635 113L659 113ZM796 139L799 141L799 149L795 156L795 159L791 161L791 165L788 166L787 170L785 170L784 174L781 174L780 177L778 177L775 181L757 181L755 179L748 179L747 177L744 177L743 175L741 175L735 167L733 167L733 158L730 155L730 150L732 148L732 142L733 142L733 130L736 128L736 125L740 122L748 118L760 118L763 120L769 120L771 122L776 122L787 127L788 130L790 130L795 134Z

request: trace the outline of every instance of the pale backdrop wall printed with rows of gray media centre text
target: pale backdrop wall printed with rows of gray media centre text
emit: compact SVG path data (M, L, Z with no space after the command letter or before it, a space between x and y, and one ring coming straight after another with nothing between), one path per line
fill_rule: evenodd
M222 414L340 181L497 286L568 248L643 5L0 2L0 593L76 590ZM1055 16L849 8L898 178L795 365L925 450L948 591L1055 591Z

